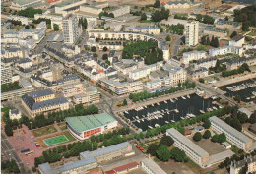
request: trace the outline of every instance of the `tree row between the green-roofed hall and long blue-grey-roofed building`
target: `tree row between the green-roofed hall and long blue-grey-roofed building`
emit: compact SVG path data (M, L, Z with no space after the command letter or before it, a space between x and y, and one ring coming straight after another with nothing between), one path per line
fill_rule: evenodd
M62 145L43 151L42 156L34 158L34 165L37 167L41 163L53 163L61 160L62 157L69 158L78 156L80 152L96 150L98 147L116 145L127 141L125 135L130 133L129 127L120 128L113 132L92 136L90 140Z

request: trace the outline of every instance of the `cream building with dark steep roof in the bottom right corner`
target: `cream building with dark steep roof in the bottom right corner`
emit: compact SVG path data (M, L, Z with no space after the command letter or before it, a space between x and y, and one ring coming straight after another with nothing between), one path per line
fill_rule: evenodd
M246 173L254 173L256 171L256 156L245 156L244 159L239 161L231 161L230 174L239 174L241 169L247 164Z

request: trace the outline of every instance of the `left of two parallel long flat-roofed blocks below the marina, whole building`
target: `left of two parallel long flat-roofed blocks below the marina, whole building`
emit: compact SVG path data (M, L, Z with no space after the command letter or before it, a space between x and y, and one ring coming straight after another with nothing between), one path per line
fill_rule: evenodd
M166 131L166 135L170 136L174 140L174 145L183 150L193 161L200 166L204 167L204 164L209 161L209 153L203 148L196 145L185 136L183 136L176 129L171 128Z

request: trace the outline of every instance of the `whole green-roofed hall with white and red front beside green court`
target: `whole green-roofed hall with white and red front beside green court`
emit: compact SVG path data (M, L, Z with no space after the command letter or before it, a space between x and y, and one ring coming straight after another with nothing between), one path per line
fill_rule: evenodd
M107 113L68 117L66 122L70 132L79 140L85 140L93 135L102 134L106 130L114 129L118 123Z

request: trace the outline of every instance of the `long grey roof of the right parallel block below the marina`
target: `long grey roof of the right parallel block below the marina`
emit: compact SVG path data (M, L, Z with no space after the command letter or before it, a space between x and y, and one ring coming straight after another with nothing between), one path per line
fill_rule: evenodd
M233 137L235 137L236 139L240 140L243 143L252 141L247 136L243 135L241 132L237 131L230 125L226 124L223 120L221 120L217 116L210 117L209 120L210 120L210 122L214 122L219 127L223 128L225 131L227 131L229 134L231 134Z

